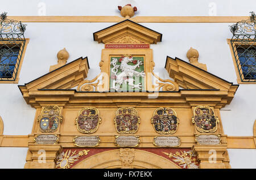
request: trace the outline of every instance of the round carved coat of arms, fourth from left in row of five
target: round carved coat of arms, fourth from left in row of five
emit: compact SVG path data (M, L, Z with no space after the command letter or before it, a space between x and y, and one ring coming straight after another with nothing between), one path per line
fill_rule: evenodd
M179 119L175 110L171 108L158 108L155 110L151 123L159 134L174 134L177 131Z

